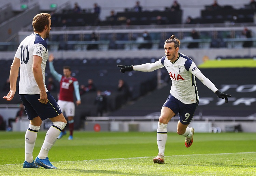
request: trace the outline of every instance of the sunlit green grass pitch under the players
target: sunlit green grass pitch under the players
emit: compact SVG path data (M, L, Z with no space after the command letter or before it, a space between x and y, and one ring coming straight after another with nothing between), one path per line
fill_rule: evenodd
M38 132L37 157L46 131ZM186 148L185 138L168 133L165 164L154 164L156 132L75 131L59 139L49 151L57 170L23 169L25 132L0 132L0 175L256 175L255 133L197 133Z

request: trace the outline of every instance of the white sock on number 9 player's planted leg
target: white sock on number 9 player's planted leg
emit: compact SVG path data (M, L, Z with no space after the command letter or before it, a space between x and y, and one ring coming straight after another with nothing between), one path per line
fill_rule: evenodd
M167 124L158 122L156 138L157 138L158 153L164 156L165 144L167 141Z

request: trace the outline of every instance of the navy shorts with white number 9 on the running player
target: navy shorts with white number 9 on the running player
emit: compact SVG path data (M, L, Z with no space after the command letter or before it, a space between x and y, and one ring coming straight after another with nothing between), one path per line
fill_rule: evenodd
M175 114L179 113L179 120L182 124L188 125L197 109L199 100L196 103L184 104L171 94L163 106L170 108Z

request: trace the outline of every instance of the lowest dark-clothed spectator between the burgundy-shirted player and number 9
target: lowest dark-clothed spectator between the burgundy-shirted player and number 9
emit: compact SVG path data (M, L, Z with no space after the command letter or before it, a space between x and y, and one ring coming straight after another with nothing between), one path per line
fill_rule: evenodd
M97 104L97 115L102 116L103 112L107 110L106 96L100 90L97 91L94 104Z

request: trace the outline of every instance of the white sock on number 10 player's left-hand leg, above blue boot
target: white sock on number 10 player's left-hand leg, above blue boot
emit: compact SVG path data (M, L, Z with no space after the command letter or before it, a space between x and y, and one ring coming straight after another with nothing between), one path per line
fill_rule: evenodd
M33 162L33 150L35 146L35 140L37 139L37 132L40 126L34 126L29 124L29 127L25 134L25 161L28 163Z

